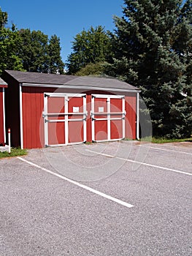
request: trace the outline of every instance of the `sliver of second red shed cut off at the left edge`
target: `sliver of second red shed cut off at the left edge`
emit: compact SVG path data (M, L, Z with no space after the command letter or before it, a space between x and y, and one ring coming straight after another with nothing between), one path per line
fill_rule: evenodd
M5 131L5 109L4 109L4 89L7 88L7 83L0 78L0 145L4 145L6 140Z

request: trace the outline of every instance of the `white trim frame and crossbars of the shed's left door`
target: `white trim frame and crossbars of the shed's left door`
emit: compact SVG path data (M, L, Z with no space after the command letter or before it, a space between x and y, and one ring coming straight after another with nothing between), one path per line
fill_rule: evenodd
M48 113L48 97L64 97L64 113L54 113L54 115L64 115L64 119L58 119L58 120L51 120L48 119L48 116L51 116L50 113ZM83 97L83 112L82 113L75 113L75 115L83 116L83 118L74 118L69 119L68 116L72 115L74 113L68 112L69 107L69 97ZM53 115L53 113L52 113ZM64 93L44 93L44 112L43 112L43 118L44 118L44 131L45 131L45 147L47 146L66 146L66 145L72 145L72 144L80 144L85 143L87 139L87 132L86 132L86 119L87 119L87 110L86 110L86 94L64 94ZM69 143L69 121L82 121L83 122L83 141L77 142L77 143ZM48 131L48 123L49 122L64 122L65 123L65 143L64 144L54 144L49 145L49 131Z

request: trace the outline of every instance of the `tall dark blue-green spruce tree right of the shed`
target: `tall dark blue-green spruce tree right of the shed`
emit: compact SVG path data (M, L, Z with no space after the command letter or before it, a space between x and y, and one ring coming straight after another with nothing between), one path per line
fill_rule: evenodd
M125 0L108 75L142 89L153 135L191 135L191 0Z

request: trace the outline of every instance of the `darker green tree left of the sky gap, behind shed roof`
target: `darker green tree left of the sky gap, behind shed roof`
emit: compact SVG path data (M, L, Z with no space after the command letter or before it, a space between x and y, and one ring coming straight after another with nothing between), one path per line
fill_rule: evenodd
M48 39L42 31L30 29L20 29L19 34L21 45L18 55L26 71L60 74L64 72L60 39L57 36Z

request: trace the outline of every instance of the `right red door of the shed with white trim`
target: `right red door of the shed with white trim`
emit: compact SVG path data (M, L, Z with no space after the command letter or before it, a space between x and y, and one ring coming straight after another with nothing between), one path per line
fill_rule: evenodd
M125 97L122 95L92 94L92 140L125 138Z

